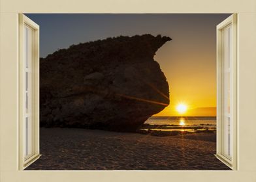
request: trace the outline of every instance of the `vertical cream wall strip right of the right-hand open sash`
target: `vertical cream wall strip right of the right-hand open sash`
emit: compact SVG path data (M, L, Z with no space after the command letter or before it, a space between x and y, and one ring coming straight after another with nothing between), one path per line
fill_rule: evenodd
M238 16L237 76L238 166L256 174L256 13Z

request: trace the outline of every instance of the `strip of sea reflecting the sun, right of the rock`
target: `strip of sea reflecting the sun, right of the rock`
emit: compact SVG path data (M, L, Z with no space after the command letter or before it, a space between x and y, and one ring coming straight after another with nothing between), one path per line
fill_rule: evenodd
M144 123L142 130L157 131L216 131L216 117L171 117L152 116Z

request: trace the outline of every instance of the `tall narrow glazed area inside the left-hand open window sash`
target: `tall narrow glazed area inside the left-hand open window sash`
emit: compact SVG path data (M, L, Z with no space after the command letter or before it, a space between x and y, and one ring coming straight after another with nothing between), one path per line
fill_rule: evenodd
M33 155L32 54L33 30L24 27L24 159Z

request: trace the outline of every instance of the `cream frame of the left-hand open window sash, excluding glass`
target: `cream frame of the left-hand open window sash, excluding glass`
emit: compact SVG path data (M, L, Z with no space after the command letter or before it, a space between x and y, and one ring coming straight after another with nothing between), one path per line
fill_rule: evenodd
M24 122L25 122L25 57L24 57L24 27L32 30L31 59L31 123L32 123L32 153L24 154ZM39 159L39 25L31 19L19 14L19 169L24 170L29 164Z

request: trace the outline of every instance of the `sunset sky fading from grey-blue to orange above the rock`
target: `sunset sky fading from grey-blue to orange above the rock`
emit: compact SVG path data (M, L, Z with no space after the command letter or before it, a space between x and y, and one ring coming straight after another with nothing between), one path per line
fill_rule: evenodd
M72 44L113 36L172 38L156 53L170 105L155 116L216 116L216 25L230 14L26 14L40 26L40 57Z

